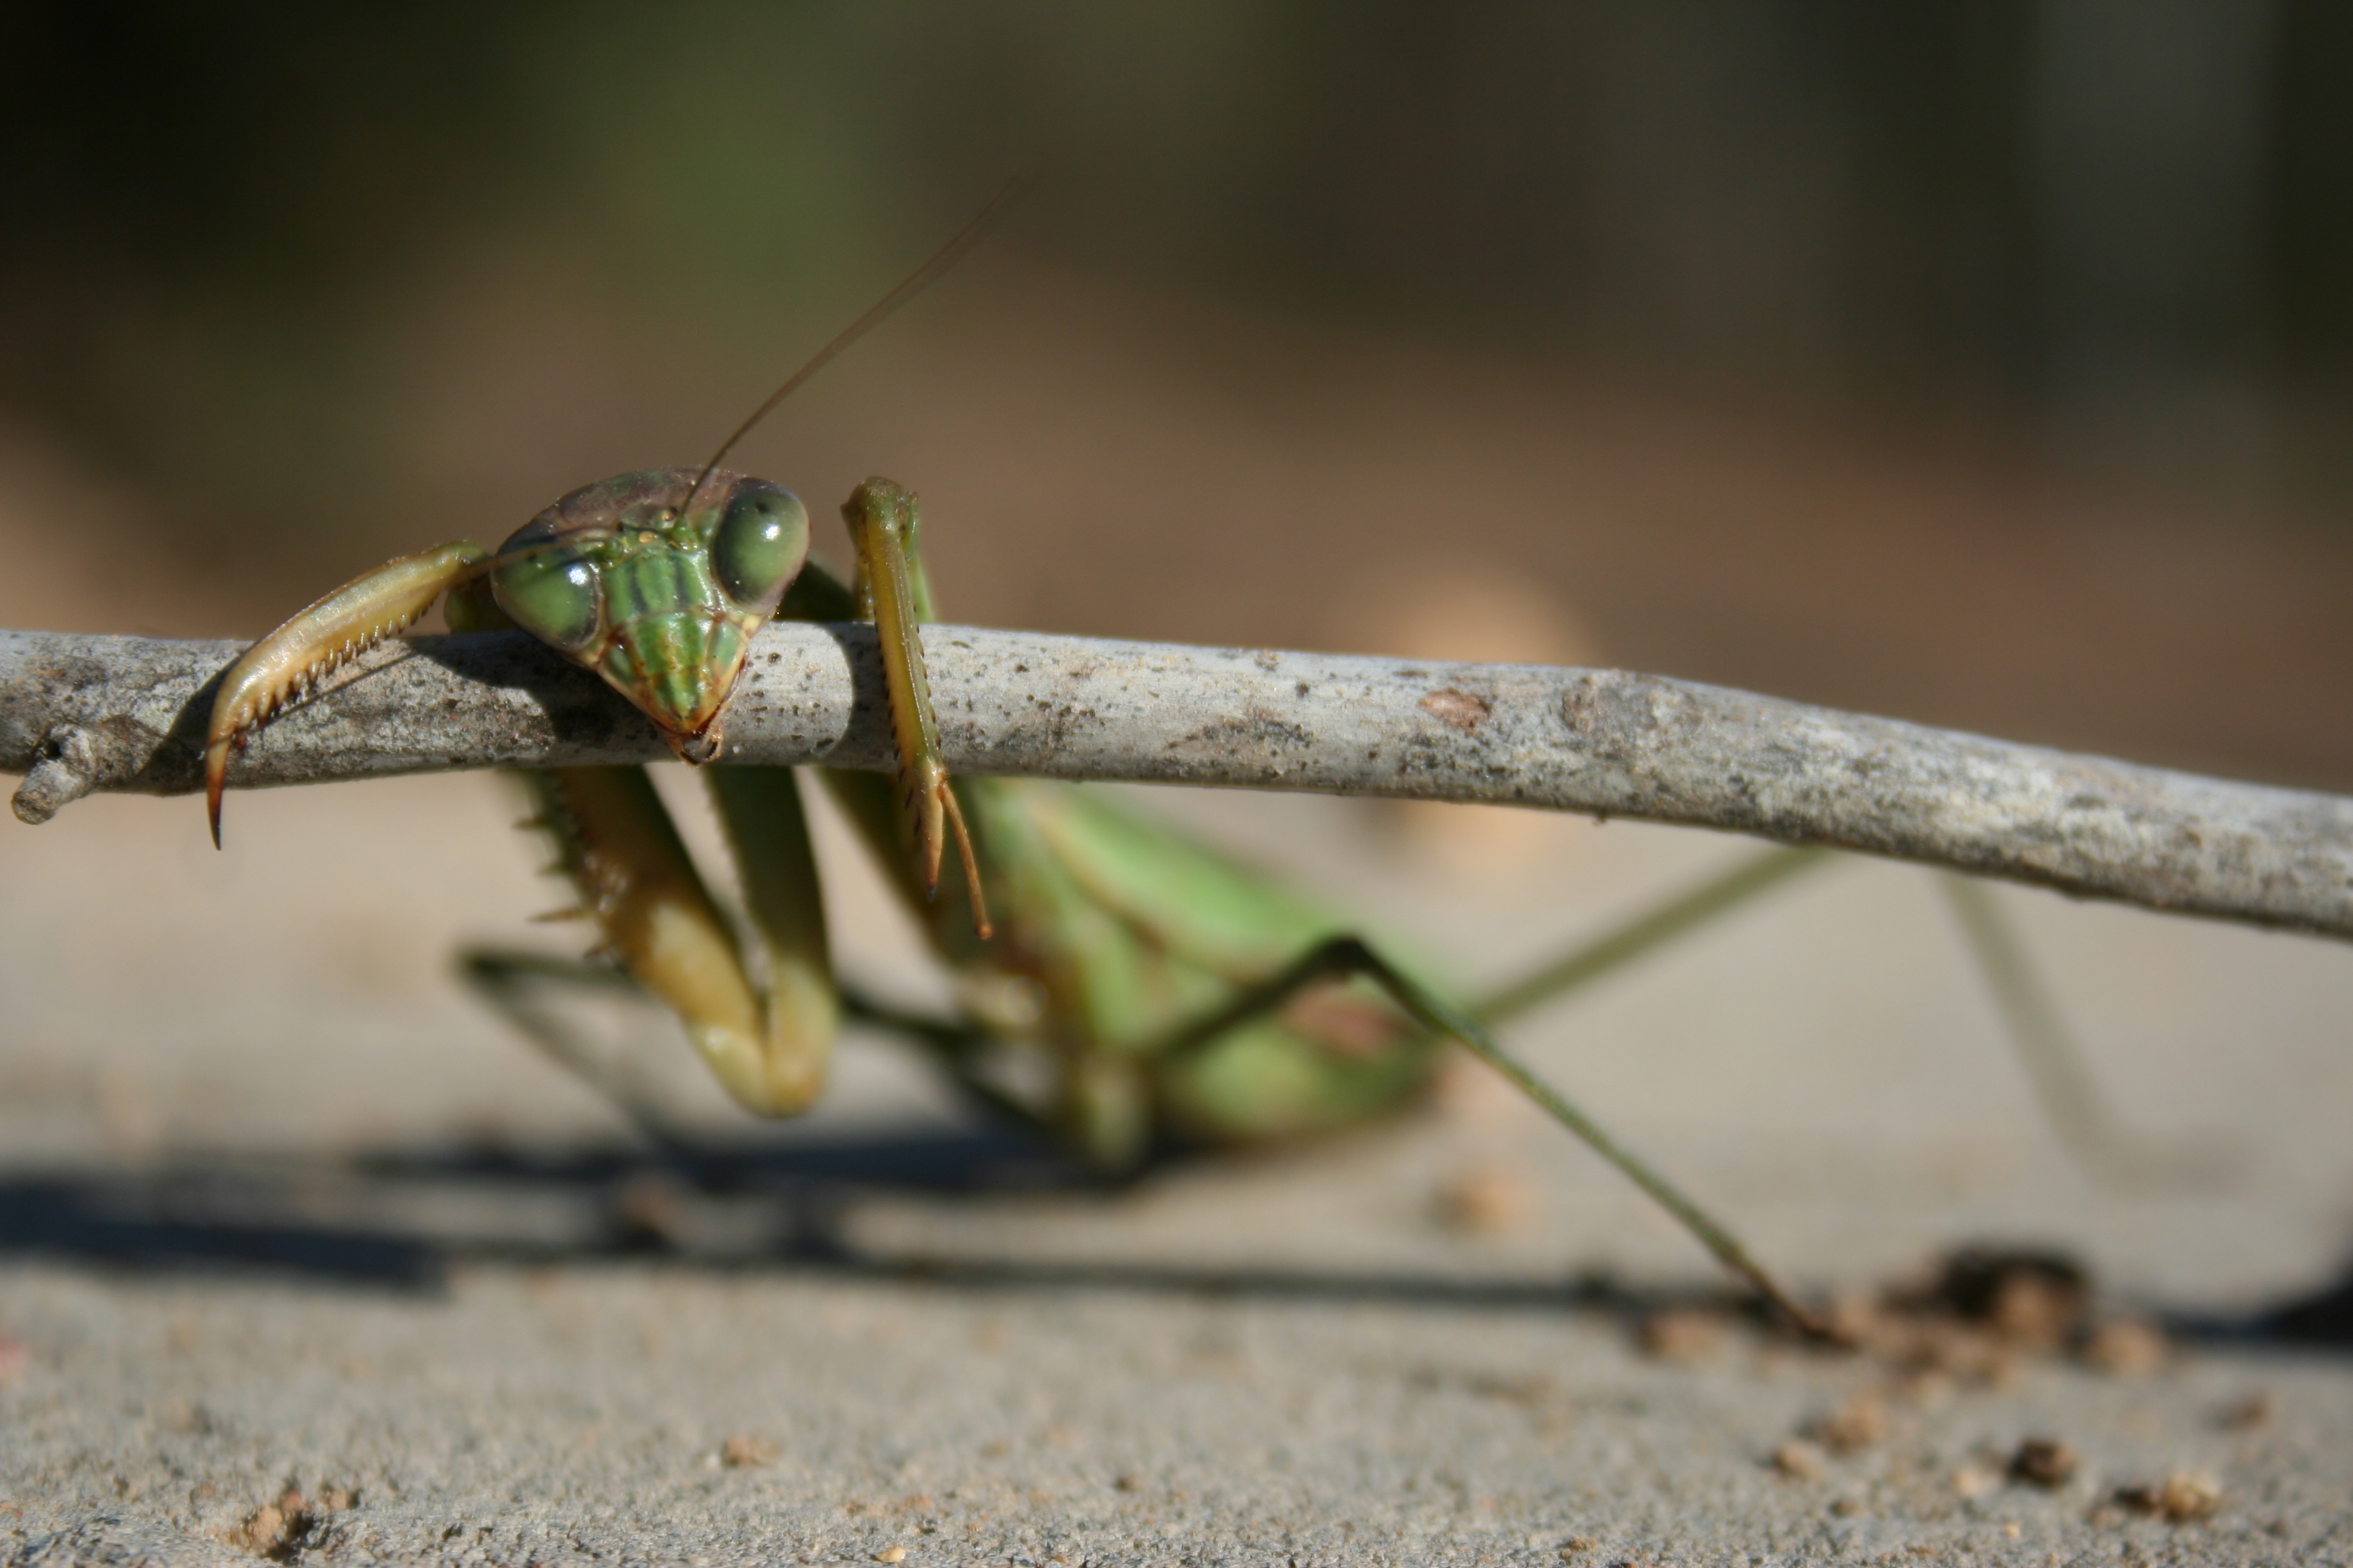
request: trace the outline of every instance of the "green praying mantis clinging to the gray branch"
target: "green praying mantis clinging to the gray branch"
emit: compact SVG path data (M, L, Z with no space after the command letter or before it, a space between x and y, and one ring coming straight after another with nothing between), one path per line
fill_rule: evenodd
M1518 985L1461 1001L1426 964L1374 947L1346 917L1085 785L948 776L922 654L934 595L915 496L880 477L852 491L842 520L856 567L842 583L807 559L809 512L798 496L720 463L776 402L951 266L986 216L819 350L701 468L576 489L499 550L459 541L400 557L256 642L221 677L207 731L214 844L242 743L339 663L442 602L452 630L520 628L640 708L706 778L734 851L741 910L727 912L642 766L527 773L529 825L553 842L600 957L475 952L466 973L593 1081L593 1065L534 1004L544 987L619 980L652 994L727 1093L762 1117L816 1103L847 1013L906 1034L972 1100L1096 1168L1129 1171L1169 1143L1261 1145L1395 1112L1457 1041L1793 1324L1826 1333L1725 1225L1494 1039L1511 1018L1781 886L1821 863L1819 851L1767 851ZM875 628L892 773L795 778L727 759L727 696L772 616ZM835 985L805 788L831 795L955 976L955 1020L899 1016ZM1981 891L1953 886L2066 1131L2089 1100L2052 1041L2038 1039L2049 1018L2024 954ZM1007 1056L1028 1072L1005 1072Z

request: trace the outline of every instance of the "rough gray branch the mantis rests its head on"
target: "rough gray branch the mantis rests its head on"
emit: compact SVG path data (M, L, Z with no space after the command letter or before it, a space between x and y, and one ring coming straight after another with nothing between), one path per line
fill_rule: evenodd
M2353 938L2353 799L2009 745L1624 670L927 628L958 773L1497 802L1824 844L2087 898ZM16 816L200 785L235 642L0 632ZM736 762L882 769L873 630L776 623ZM282 715L231 783L647 762L654 729L520 635L419 637ZM235 813L231 811L231 820ZM195 825L191 823L191 832Z

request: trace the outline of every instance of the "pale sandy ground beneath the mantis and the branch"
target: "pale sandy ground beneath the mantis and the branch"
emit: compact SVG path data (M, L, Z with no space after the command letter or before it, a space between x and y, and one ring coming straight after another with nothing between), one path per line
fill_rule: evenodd
M1452 388L1419 397L1428 411ZM1181 414L1096 388L1066 423L1085 425L1080 447L1115 451L1153 425L1195 461L1238 461L1231 421ZM1391 473L1506 461L1501 428L1400 437ZM986 430L941 430L918 418L913 440L986 449ZM941 451L927 465L962 473ZM1315 461L1313 442L1282 451ZM1638 449L1626 470L1657 458ZM1706 487L1682 473L1697 508ZM1358 468L1348 494L1379 512L1379 482ZM1600 635L1628 663L1739 675L1708 663L1739 628L1729 590L1673 609L1680 545L1640 555L1628 538L1647 512L1626 494L1593 501L1633 520L1593 550L1624 567L1628 597L1560 621L1527 611L1492 654L1555 639L1574 658ZM1772 491L1767 510L1798 515L1800 494ZM1854 482L1828 510L1864 515L1885 494L1882 477ZM967 505L1009 503L981 487ZM1078 512L1056 505L1040 503L1033 534L1078 538ZM104 614L82 536L9 541L21 571L0 618ZM1181 597L1151 538L1106 548ZM974 614L1002 599L986 618L1031 618L988 562L965 567ZM1805 576L1798 557L1781 569ZM1056 590L1054 571L1038 623L1068 625L1052 595L1089 590L1075 576ZM1991 557L1974 571L2007 581ZM2273 578L2240 574L2214 604L2261 621ZM2275 576L2289 637L2315 574ZM1497 581L1464 592L1487 592L1482 628L1508 632L1525 599ZM1322 642L1351 639L1346 614L1407 635L1405 611L1377 609L1391 588L1367 583L1355 609L1318 611L1334 616ZM195 614L165 588L136 592L144 625L221 630L174 621ZM2118 592L2075 630L2129 621L2141 588ZM1226 621L1193 635L1299 609L1280 583L1221 604ZM1666 607L1666 644L1678 616L1699 628L1689 661L1624 651L1619 621L1645 604ZM1774 682L1765 661L1753 684L1838 701L1826 686L1852 675L1866 698L1887 682L1864 705L1967 719L1984 701L2002 729L2009 679L2054 703L2012 710L2033 715L2012 733L2066 738L2052 733L2066 703L2028 670L2002 675L2009 654L1937 665L1897 649L1854 668L1852 649L1906 607L1857 614L1817 602L1812 642L1774 644L1814 675ZM2057 637L2019 642L2038 635ZM2108 663L2085 668L2094 689L2108 679ZM2219 712L2257 668L2118 698L2106 733ZM2315 658L2266 691L2301 710L2334 668ZM1897 701L1906 675L1929 696ZM2339 766L2337 741L2261 708L2231 724L2139 755L2214 745ZM1744 853L1485 811L1153 806L1365 910L1466 983ZM2353 1556L2346 1324L2280 1319L2341 1281L2353 1237L2341 947L2000 893L2122 1124L2202 1166L2179 1185L2104 1187L2068 1161L1934 879L1906 867L1840 867L1518 1030L1544 1072L1809 1295L1875 1291L1969 1241L2035 1246L2092 1274L2099 1321L2153 1324L2167 1345L2104 1363L2019 1347L1826 1356L1722 1316L1732 1298L1680 1232L1475 1072L1388 1128L1101 1192L965 1121L885 1039L849 1039L826 1107L762 1131L694 1079L664 1020L624 1016L609 1027L675 1067L706 1140L694 1161L659 1159L452 978L468 940L576 945L527 926L558 896L532 879L513 813L487 778L247 795L219 856L186 799L5 823L0 1561ZM920 999L936 983L904 922L838 849L845 969ZM1711 1316L1661 1326L1678 1309ZM2132 1333L2120 1342L2146 1352ZM2066 1443L2073 1474L2012 1479L2028 1436ZM2167 1476L2184 1519L2134 1502L2134 1488L2162 1500ZM2188 1516L2207 1483L2217 1509Z

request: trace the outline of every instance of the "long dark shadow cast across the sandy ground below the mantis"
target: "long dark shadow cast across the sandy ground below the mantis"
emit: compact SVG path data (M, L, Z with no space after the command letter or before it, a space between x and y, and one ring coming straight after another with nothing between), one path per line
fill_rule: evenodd
M1184 1161L1172 1152L1153 1168ZM1141 1180L1151 1180L1146 1173ZM0 1262L289 1279L431 1295L464 1262L666 1258L713 1272L793 1269L962 1291L1113 1288L1431 1307L1748 1309L1732 1291L1628 1288L1607 1274L1445 1274L875 1255L849 1239L866 1194L941 1201L1094 1194L1111 1182L1014 1131L871 1133L673 1147L379 1150L351 1159L200 1159L0 1178ZM2186 1340L2353 1352L2353 1267L2247 1316L2162 1314Z

